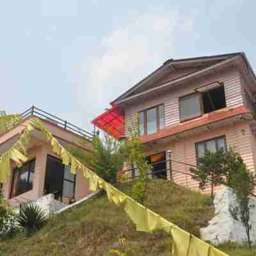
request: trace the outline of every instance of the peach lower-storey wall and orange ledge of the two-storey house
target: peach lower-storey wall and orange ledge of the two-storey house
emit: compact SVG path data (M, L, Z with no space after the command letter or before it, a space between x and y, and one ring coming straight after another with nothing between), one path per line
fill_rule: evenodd
M255 160L256 160L256 139L252 133L250 124L246 122L236 122L235 124L225 125L212 131L202 132L200 134L193 134L179 140L170 141L169 143L157 142L152 148L145 147L145 155L157 154L167 150L172 150L172 159L182 163L196 164L195 143L216 138L218 136L226 137L227 147L232 147L235 152L243 157L244 163L250 172L255 173ZM129 164L125 168L131 168ZM180 163L172 162L172 169L178 172L189 173L189 166ZM131 173L130 173L131 175ZM168 173L170 179L170 173ZM190 189L198 189L198 182L193 180L189 175L173 172L173 179L177 184L185 186ZM215 189L219 189L216 187ZM209 193L210 188L204 190Z

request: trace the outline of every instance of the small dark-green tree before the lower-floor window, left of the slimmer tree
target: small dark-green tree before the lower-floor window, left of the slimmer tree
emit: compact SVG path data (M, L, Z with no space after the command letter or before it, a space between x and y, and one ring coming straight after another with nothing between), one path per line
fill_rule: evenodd
M190 168L193 173L193 179L199 181L200 189L205 189L205 186L211 186L211 202L214 200L214 186L224 183L226 169L223 163L225 162L225 154L222 148L216 152L207 150L204 157L198 159L198 168Z

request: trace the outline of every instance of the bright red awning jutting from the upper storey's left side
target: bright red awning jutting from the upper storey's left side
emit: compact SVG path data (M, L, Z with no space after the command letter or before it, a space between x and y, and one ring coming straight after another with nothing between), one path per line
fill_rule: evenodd
M113 138L124 138L124 111L118 106L113 106L93 119L92 124Z

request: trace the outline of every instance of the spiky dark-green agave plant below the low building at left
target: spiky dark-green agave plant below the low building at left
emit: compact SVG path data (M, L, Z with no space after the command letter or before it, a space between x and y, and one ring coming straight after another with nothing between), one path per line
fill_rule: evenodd
M18 222L21 227L26 228L28 234L40 229L45 223L45 212L39 205L26 204L20 206Z

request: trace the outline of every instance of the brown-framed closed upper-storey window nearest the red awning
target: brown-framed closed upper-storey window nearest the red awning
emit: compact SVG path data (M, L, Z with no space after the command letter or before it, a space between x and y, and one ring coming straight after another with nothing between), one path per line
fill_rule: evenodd
M139 113L140 135L152 134L164 128L164 106L157 106Z

